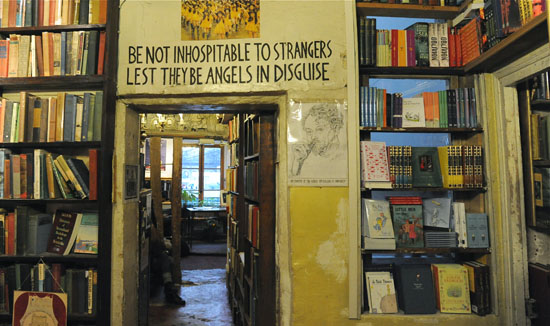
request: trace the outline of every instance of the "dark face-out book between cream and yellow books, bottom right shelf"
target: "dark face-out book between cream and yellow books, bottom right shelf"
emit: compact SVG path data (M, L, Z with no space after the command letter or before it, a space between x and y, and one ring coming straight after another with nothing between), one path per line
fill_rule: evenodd
M435 294L430 265L397 265L399 308L406 314L435 314Z

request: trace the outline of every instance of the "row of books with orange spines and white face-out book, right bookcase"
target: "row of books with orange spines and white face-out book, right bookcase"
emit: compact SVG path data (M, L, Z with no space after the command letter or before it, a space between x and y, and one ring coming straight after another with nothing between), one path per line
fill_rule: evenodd
M473 88L423 92L403 98L400 93L361 86L359 123L378 128L476 128L476 95Z

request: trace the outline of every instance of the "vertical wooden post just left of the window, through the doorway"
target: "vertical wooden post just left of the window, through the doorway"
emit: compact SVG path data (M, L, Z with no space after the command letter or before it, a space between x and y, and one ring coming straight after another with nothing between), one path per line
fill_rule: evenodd
M174 137L172 165L172 280L181 283L181 137Z

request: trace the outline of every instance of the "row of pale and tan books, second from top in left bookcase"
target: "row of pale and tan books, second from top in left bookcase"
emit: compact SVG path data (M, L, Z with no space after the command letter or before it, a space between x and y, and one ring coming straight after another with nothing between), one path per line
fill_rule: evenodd
M10 34L0 40L0 77L102 75L105 31Z

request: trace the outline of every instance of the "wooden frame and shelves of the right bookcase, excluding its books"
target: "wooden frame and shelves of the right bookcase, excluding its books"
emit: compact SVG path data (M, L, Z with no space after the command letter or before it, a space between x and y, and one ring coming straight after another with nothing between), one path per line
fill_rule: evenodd
M359 23L360 18L364 16L384 16L384 17L406 17L406 18L434 18L434 19L444 19L444 20L450 20L455 18L468 4L470 1L465 1L460 7L458 6L424 6L424 5L403 5L403 4L387 4L387 3L366 3L366 2L357 2L355 6L355 13L357 15L357 22ZM544 16L544 15L542 15ZM370 17L369 17L370 18ZM538 18L539 20L542 18ZM357 24L358 29L361 28L361 24ZM365 23L366 25L366 23ZM538 26L538 25L537 25ZM529 28L529 27L527 27ZM363 34L364 35L364 34ZM360 30L358 30L356 36L358 37L358 41L356 42L356 52L358 54L361 54L361 40L362 34ZM359 49L359 51L357 51ZM509 49L509 48L507 48ZM491 62L489 69L496 69L497 65L493 62L494 59L499 59L496 50L493 50L495 54L485 54L485 57L481 58L478 57L477 60L480 60L480 62L483 60L488 60L487 62ZM506 50L505 50L506 52ZM510 52L508 50L508 52ZM489 56L491 55L491 56ZM502 53L500 54L502 55ZM483 56L483 54L482 54ZM359 56L360 57L360 56ZM359 59L359 58L358 58ZM403 135L414 135L414 134L431 134L431 135L438 135L438 134L445 134L448 135L449 144L452 146L482 146L483 145L483 137L484 137L484 124L482 121L478 119L478 121L473 126L458 126L458 127L394 127L390 124L388 121L387 127L377 125L374 126L365 126L364 121L367 119L372 118L365 118L363 115L362 110L362 102L365 102L364 99L367 98L363 94L362 87L368 87L370 86L370 80L373 78L384 78L384 79L425 79L425 80L433 80L433 79L444 79L447 80L447 92L449 89L459 89L461 87L472 87L473 84L471 83L471 80L468 78L469 74L472 74L475 69L478 69L478 71L487 71L487 68L485 66L488 66L486 63L476 63L471 62L470 66L457 66L457 67L416 67L416 66L409 66L409 67L379 67L374 65L366 65L362 64L360 60L359 64L356 65L357 67L357 77L358 77L358 85L359 87L356 89L356 96L358 96L359 101L359 109L358 113L355 114L355 121L359 122L358 126L356 127L356 137L357 141L354 143L356 145L360 145L361 141L364 140L372 140L372 135L376 134L377 137L375 141L383 141L384 139L390 139L391 134L403 134ZM475 92L476 96L479 96L479 93L477 90L473 90ZM430 91L430 90L427 90ZM470 92L472 92L470 91ZM387 91L390 93L390 90ZM421 93L420 91L418 93ZM458 94L458 91L457 91ZM415 94L409 94L408 97L414 96ZM372 97L371 97L372 98ZM387 99L387 98L386 98ZM370 103L370 102L369 102ZM389 103L389 102L388 102ZM376 109L375 109L376 110ZM388 106L389 111L389 106ZM385 114L385 111L384 111ZM478 113L478 117L481 117L481 114ZM374 120L377 120L377 118L374 118ZM450 123L450 121L449 121ZM368 124L367 124L368 125ZM388 136L385 136L385 135ZM401 145L401 144L400 144ZM429 143L426 143L425 145L416 145L416 146L438 146L438 145L430 145ZM359 146L358 146L359 147ZM355 155L357 157L358 161L361 161L361 155L359 148L357 149ZM362 163L362 162L361 162ZM360 169L361 163L357 165L357 168ZM361 176L361 172L356 172L357 176ZM352 174L353 175L353 174ZM352 184L353 185L353 184ZM384 187L383 187L384 188ZM350 190L352 191L352 190ZM464 203L464 207L466 212L471 213L483 213L486 211L486 202L487 202L487 192L490 191L485 184L481 185L480 187L415 187L414 185L412 188L396 188L393 187L391 189L382 189L377 188L376 186L368 186L365 187L362 185L362 183L357 183L357 207L358 207L358 216L361 216L361 207L363 205L362 200L366 198L374 198L374 199L381 199L381 198L387 198L389 196L421 196L422 199L427 198L437 198L437 197L449 197L451 198L452 202L461 202ZM351 196L352 198L354 197ZM452 213L451 213L452 214ZM394 222L395 223L395 222ZM361 228L361 219L359 219L358 224L356 224L357 227ZM494 227L491 225L491 221L489 219L489 228ZM428 230L430 228L428 227ZM431 229L432 231L434 229ZM454 230L453 230L454 231ZM359 233L361 233L359 231ZM452 232L451 232L452 233ZM397 233L395 234L395 237L397 238ZM423 248L402 248L397 247L393 250L381 250L381 249L364 249L362 245L362 235L359 235L358 246L360 249L358 252L351 254L351 259L353 260L354 257L358 258L358 268L359 275L355 274L350 276L350 300L353 302L353 292L357 291L357 297L359 299L358 305L361 306L360 311L360 319L368 322L381 322L383 323L385 320L387 321L388 318L392 319L392 322L411 322L411 317L409 315L406 315L401 310L397 314L387 314L387 315L380 315L380 314L373 314L369 313L368 309L365 311L365 309L368 306L367 303L367 290L364 288L364 272L365 271L373 271L377 270L376 268L379 268L379 266L382 266L384 264L391 265L390 271L394 272L393 266L399 265L403 263L438 263L438 262L453 262L453 263L462 263L464 261L469 260L482 260L488 265L491 266L491 254L493 253L493 250L491 247L489 248L434 248L434 247L423 247ZM352 242L353 243L353 242ZM352 245L353 246L353 245ZM442 260L439 260L442 259ZM353 263L351 264L353 266ZM395 274L394 274L395 275ZM495 286L495 281L491 280L490 283L492 286ZM355 288L354 288L355 287ZM397 289L396 289L397 291ZM400 293L397 293L399 296ZM434 315L425 315L423 317L429 317L433 316L433 318L437 319L438 322L445 323L446 321L449 321L449 318L452 318L455 322L457 320L461 320L461 323L468 323L473 322L474 324L481 324L484 322L493 322L495 319L494 315L494 307L498 306L497 299L492 298L492 313L485 315L485 316L479 316L476 314L466 314L466 315L454 315L450 317L450 315L437 312ZM354 304L352 303L351 309L353 310L355 308ZM353 313L350 314L353 316ZM355 316L354 316L355 317ZM455 320L456 318L456 320ZM414 319L414 322L420 322L419 319ZM414 323L413 322L413 323Z

